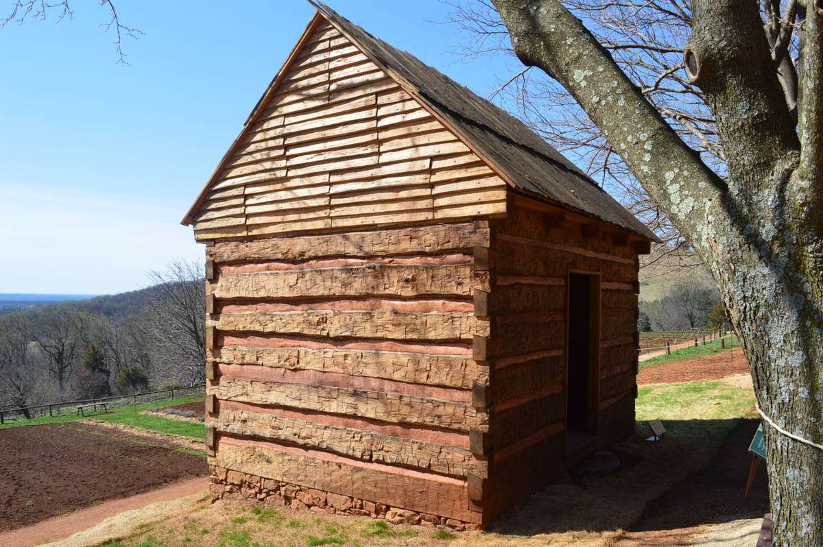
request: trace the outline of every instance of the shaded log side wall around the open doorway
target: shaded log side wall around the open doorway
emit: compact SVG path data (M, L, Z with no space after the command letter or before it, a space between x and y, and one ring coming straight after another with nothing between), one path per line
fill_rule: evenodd
M601 276L597 439L588 447L634 430L637 253L605 225L565 218L559 210L510 203L505 220L490 222L491 292L484 295L490 335L474 344L477 362L490 366L489 382L476 387L489 424L470 431L470 449L487 462L489 476L469 481L472 507L486 520L579 456L570 452L565 432L565 321L567 304L574 305L566 302L566 284L572 269Z

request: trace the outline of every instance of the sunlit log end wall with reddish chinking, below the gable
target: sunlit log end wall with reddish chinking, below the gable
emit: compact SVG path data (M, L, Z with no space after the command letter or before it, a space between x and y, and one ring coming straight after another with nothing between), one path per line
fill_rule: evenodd
M207 246L212 467L481 524L467 481L487 475L469 431L488 425L472 344L490 334L474 313L489 237L463 222Z

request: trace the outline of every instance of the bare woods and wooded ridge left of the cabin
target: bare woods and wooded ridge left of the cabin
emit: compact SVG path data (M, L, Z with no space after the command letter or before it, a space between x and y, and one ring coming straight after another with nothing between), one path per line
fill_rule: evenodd
M148 276L143 290L0 315L0 408L203 382L202 266Z

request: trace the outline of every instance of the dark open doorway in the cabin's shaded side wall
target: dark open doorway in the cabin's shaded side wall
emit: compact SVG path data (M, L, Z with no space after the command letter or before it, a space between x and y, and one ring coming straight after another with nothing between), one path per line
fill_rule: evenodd
M597 434L600 369L600 276L570 272L567 313L566 430Z

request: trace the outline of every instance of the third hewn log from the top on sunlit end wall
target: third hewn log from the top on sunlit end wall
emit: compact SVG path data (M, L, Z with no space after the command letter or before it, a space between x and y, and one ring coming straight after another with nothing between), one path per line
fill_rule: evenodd
M332 338L393 340L472 340L488 336L489 322L471 313L305 310L298 312L221 313L221 331L277 332Z

